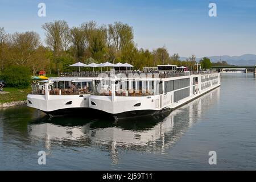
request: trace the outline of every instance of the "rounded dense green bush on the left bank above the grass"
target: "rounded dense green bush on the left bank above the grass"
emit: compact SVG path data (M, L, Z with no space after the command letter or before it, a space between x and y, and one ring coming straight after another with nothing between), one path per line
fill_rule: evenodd
M28 88L31 83L30 70L18 65L6 68L2 72L1 78L5 80L7 86L15 88Z

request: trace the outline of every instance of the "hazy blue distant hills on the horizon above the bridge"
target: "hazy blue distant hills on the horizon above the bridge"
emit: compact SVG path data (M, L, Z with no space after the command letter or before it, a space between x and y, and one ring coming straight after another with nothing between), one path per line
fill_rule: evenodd
M232 65L255 65L256 64L256 55L253 54L245 54L242 56L206 56L208 57L213 63L218 61L227 61L228 64ZM181 60L187 59L187 57L180 57ZM200 61L202 57L197 58L197 61Z

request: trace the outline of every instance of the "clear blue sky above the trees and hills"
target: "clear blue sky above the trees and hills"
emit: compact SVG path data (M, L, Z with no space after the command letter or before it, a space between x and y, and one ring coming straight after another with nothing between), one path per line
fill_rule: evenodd
M46 3L46 17L38 16L38 3ZM217 5L217 17L209 17L209 3ZM0 0L0 27L7 32L36 31L63 19L70 27L95 20L115 21L134 29L139 48L166 46L180 56L238 56L256 54L256 1L254 0Z

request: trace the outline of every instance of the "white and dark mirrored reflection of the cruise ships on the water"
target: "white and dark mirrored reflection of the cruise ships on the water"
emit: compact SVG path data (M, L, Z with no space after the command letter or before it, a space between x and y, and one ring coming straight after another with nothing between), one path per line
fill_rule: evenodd
M164 154L219 98L217 88L171 114L117 122L89 119L86 114L80 118L46 115L30 122L27 131L30 138L44 141L47 154L55 145L98 147L109 151L112 163L118 164L118 152L122 150Z

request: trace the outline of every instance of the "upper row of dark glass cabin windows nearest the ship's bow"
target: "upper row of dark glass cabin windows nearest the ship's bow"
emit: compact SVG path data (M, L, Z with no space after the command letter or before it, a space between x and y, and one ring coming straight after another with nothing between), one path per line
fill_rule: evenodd
M185 88L188 86L189 86L189 78L165 81L164 82L164 93L171 92L171 91L181 89L181 88Z

